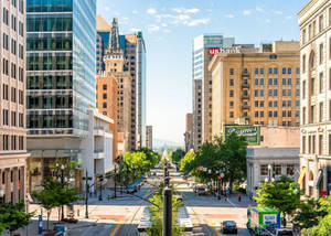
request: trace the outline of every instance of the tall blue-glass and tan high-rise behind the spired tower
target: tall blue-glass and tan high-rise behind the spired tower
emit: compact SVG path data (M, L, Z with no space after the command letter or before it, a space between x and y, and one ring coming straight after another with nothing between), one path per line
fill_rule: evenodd
M104 55L111 39L111 30L107 30L109 25L102 17L98 17L98 25L97 68L104 71ZM142 32L119 34L118 43L124 51L124 72L131 76L130 148L135 150L146 147L146 45Z

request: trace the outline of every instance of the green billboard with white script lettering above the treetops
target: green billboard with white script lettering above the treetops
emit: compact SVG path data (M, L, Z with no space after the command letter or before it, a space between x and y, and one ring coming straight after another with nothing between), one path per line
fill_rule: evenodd
M227 139L232 132L245 137L247 143L250 146L259 144L259 126L224 126L224 139Z

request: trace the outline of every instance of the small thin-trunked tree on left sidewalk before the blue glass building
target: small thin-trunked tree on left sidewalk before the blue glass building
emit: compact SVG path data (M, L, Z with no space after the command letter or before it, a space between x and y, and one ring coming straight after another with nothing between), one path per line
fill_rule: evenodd
M34 191L32 194L38 200L39 204L46 210L47 212L47 230L50 229L50 215L52 210L55 207L60 207L60 202L57 197L61 193L61 189L63 187L60 181L53 180L52 178L47 178L43 184L43 190L41 192Z

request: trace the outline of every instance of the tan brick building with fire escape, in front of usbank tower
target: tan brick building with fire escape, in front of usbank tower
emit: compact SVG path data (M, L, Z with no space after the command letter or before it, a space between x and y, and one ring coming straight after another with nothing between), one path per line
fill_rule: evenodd
M300 57L298 42L264 44L259 52L236 47L217 54L213 76L212 133L225 124L299 126Z

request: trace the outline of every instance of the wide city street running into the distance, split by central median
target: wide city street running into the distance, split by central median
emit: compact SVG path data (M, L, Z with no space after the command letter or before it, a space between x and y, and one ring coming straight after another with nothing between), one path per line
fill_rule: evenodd
M157 169L157 176L149 176L147 183L135 195L117 193L117 199L107 200L107 195L113 195L111 191L103 192L103 201L98 201L98 195L89 201L89 218L85 218L85 205L75 205L75 216L79 219L77 224L66 224L67 235L71 236L125 236L137 235L137 226L140 222L143 207L149 203L142 199L149 199L156 185L163 180L163 170ZM174 193L182 193L183 203L188 207L190 218L193 224L193 234L197 235L224 235L220 230L221 222L225 219L235 221L238 226L238 235L249 235L246 229L246 208L252 202L243 196L238 203L237 195L233 194L225 201L217 200L215 196L197 196L191 187L192 180L184 180L175 169L170 171L171 183L174 185ZM98 192L99 193L99 192ZM78 211L79 210L79 211ZM30 205L30 211L40 213L38 205ZM79 212L79 215L77 215ZM56 222L57 211L53 211L51 222ZM46 213L43 212L43 227L46 228ZM52 228L50 224L50 228ZM22 230L26 235L26 230ZM29 226L29 235L38 234L38 217Z

